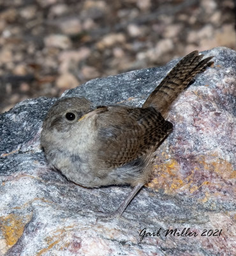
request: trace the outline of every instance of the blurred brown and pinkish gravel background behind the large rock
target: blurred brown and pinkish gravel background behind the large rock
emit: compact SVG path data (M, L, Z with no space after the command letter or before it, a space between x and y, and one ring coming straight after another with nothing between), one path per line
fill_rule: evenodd
M0 0L0 113L96 77L236 50L233 0Z

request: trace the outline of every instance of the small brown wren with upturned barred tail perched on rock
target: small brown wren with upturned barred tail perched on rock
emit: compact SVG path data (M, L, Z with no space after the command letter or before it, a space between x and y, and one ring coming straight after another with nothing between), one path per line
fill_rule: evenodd
M142 108L92 108L82 97L58 100L43 122L41 145L48 163L69 180L93 188L130 184L133 190L109 215L122 214L149 180L154 152L172 132L166 121L172 102L207 67L198 51L185 56L149 95Z

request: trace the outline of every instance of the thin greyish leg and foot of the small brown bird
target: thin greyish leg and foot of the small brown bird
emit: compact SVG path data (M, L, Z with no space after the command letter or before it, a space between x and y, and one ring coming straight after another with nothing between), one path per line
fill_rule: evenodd
M136 195L136 193L138 193L138 191L142 188L142 186L144 186L144 184L140 183L138 185L136 185L130 192L129 195L126 197L126 199L124 200L124 202L122 202L122 204L119 206L119 208L117 210L115 210L114 212L97 212L99 216L99 218L106 218L106 217L113 217L113 216L119 216L121 215L124 210L126 209L126 207L128 206L129 202L134 198L134 196Z

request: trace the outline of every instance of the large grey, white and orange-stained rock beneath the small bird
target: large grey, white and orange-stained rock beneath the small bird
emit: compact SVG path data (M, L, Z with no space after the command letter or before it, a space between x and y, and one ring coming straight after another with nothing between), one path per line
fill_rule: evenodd
M40 131L57 99L25 100L1 115L0 255L233 255L236 53L204 54L214 67L174 104L153 179L119 218L97 220L94 211L113 211L131 188L86 189L48 168ZM176 63L94 79L63 97L141 106Z

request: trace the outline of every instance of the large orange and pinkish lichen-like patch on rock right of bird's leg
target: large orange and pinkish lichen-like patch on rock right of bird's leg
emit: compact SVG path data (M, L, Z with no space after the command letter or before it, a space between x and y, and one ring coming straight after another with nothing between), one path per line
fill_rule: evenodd
M197 156L189 162L189 166L192 169L190 174L183 172L175 159L156 164L154 179L147 186L153 189L164 189L169 195L175 195L181 191L189 195L199 192L200 202L204 203L210 196L217 198L225 196L220 192L226 189L224 180L235 178L232 164L218 156ZM232 188L227 187L226 190L228 189Z

